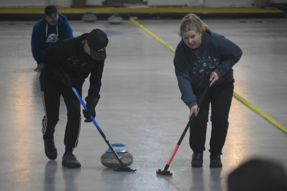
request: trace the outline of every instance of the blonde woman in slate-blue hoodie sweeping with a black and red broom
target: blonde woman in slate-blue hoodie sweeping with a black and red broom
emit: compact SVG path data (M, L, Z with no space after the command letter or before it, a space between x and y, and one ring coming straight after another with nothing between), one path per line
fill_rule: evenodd
M228 115L233 97L233 65L242 56L242 50L222 35L211 32L195 14L185 16L180 25L179 42L174 57L175 74L181 99L189 107L190 147L193 150L191 166L202 167L209 106L212 123L210 138L210 167L222 167L222 148L228 131ZM210 83L200 112L198 100L204 87Z

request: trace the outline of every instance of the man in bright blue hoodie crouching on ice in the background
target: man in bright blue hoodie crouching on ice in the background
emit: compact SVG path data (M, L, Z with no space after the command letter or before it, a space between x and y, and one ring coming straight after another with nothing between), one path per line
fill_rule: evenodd
M43 52L59 43L60 41L73 37L73 31L68 19L58 13L57 8L49 5L45 8L44 18L40 19L33 27L31 48L37 67L34 71L40 72L44 66L42 60Z

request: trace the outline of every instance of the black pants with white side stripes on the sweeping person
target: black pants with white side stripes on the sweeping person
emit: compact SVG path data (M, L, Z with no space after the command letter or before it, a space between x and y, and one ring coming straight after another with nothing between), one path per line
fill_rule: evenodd
M44 104L45 116L42 120L42 133L51 138L59 121L60 97L64 98L67 107L67 124L65 129L65 150L73 151L77 147L80 127L81 111L80 101L72 88L65 87L61 82L44 81L40 77L41 93ZM77 84L76 89L82 96L83 83Z

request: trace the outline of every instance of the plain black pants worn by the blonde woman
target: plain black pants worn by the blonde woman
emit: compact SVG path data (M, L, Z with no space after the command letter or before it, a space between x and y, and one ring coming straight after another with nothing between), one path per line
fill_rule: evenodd
M210 138L210 153L215 155L222 154L222 148L225 143L228 130L228 115L233 97L233 82L211 86L207 91L198 115L190 124L189 143L193 152L202 153L205 150L206 130L209 117L209 106L211 105L212 124ZM204 89L193 87L193 93L199 101Z

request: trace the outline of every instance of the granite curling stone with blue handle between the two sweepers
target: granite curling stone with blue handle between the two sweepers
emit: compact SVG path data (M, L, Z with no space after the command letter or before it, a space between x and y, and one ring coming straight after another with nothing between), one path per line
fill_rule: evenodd
M124 147L125 144L118 143L118 144L112 144L112 147ZM131 153L128 153L127 150L119 150L115 149L115 152L117 155L119 155L120 159L123 161L123 164L125 167L128 167L133 162L133 157ZM117 160L115 154L112 152L112 150L109 148L106 150L106 153L104 153L101 156L101 163L108 168L119 168L122 167L120 162Z

